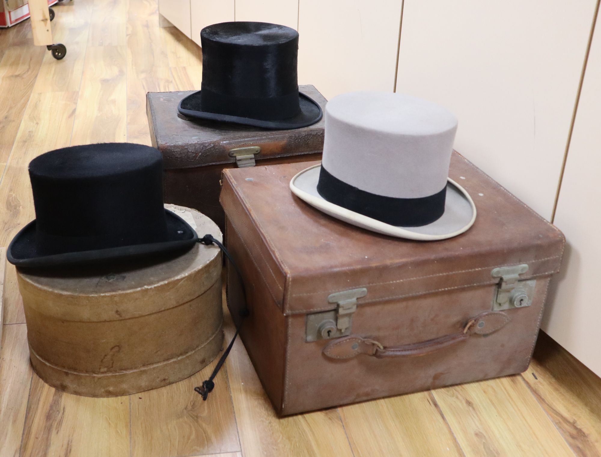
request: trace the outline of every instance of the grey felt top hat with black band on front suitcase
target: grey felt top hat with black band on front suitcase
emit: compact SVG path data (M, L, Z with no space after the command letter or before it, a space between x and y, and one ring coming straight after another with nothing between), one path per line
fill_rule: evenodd
M474 224L469 194L448 178L457 119L391 92L350 92L326 105L321 165L290 190L364 229L415 240L457 236Z

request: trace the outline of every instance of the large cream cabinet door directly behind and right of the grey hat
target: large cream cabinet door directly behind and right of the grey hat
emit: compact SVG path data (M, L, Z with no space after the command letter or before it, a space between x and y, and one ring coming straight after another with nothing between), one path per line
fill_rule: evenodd
M398 57L397 92L453 111L457 151L547 219L595 0L566 5L404 0Z

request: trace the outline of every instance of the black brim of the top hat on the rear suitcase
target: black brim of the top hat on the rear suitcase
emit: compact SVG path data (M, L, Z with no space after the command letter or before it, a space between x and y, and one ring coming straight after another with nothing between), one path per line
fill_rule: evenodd
M177 106L178 112L186 118L204 119L208 121L231 122L233 124L252 125L253 127L269 128L271 130L288 130L307 127L322 119L322 107L313 98L299 92L299 105L301 112L292 118L279 121L262 121L261 119L241 118L218 113L209 113L200 110L200 92L194 92L183 98Z

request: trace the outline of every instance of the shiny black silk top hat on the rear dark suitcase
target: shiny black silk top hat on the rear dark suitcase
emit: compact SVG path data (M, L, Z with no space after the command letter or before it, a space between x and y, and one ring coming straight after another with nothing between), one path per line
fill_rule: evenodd
M188 118L274 130L301 128L322 118L319 104L299 93L299 34L265 22L223 22L200 32L201 90L180 101Z

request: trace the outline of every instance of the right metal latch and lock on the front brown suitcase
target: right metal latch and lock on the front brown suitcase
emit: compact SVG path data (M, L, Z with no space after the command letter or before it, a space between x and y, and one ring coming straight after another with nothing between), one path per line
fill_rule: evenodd
M493 278L500 278L492 299L493 311L523 308L532 305L536 279L520 281L520 275L528 271L528 265L498 267L490 272Z

